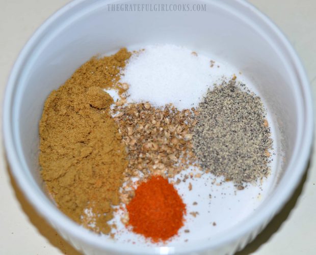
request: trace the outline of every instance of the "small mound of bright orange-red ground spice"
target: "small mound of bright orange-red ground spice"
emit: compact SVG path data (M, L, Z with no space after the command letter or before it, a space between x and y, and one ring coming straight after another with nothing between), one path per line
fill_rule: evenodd
M166 241L176 235L186 214L186 205L178 192L161 176L142 182L126 208L133 232L153 242Z

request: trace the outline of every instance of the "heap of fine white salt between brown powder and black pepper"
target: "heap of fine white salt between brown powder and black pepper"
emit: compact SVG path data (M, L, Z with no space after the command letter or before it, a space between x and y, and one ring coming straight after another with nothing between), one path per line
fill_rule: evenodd
M130 88L128 102L173 103L178 109L197 106L214 78L223 75L217 63L175 45L150 45L129 59L120 82ZM231 74L230 74L231 75Z

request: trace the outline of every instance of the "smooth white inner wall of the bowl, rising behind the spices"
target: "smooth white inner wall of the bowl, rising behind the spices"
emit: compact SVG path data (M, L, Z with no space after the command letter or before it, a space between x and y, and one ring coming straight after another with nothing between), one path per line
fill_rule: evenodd
M173 3L182 5L182 1ZM264 101L273 127L276 167L269 199L279 183L291 176L288 166L300 147L305 108L302 81L283 41L240 1L186 3L205 5L206 11L109 11L112 7L102 1L78 2L37 32L20 63L23 68L12 94L10 121L23 178L42 201L51 203L44 195L38 165L38 123L45 99L91 56L146 44L183 45L238 68ZM258 211L266 210L265 203Z

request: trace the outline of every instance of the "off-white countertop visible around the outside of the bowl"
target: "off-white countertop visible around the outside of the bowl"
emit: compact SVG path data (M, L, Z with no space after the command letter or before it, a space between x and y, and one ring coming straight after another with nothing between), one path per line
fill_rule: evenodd
M232 0L233 1L233 0ZM1 99L10 69L37 27L67 0L0 0ZM285 33L297 50L316 98L316 1L251 0ZM0 254L80 254L60 237L24 199L12 179L0 147ZM292 199L239 255L315 254L315 154Z

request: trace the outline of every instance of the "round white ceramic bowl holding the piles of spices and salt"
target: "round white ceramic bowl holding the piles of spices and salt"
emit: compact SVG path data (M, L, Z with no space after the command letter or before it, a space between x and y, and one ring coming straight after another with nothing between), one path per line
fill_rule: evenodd
M169 3L181 3L172 1ZM250 242L282 208L299 183L312 143L309 83L292 46L277 27L242 0L187 1L206 12L110 12L119 1L74 1L51 16L21 51L4 100L7 157L19 186L38 212L87 254L231 254ZM124 4L140 3L125 1ZM151 4L160 3L151 1ZM278 166L268 199L247 220L211 240L177 247L138 247L101 241L62 214L42 189L38 123L43 103L73 71L97 53L123 46L173 43L212 52L255 84L275 127ZM282 152L282 153L281 153Z

